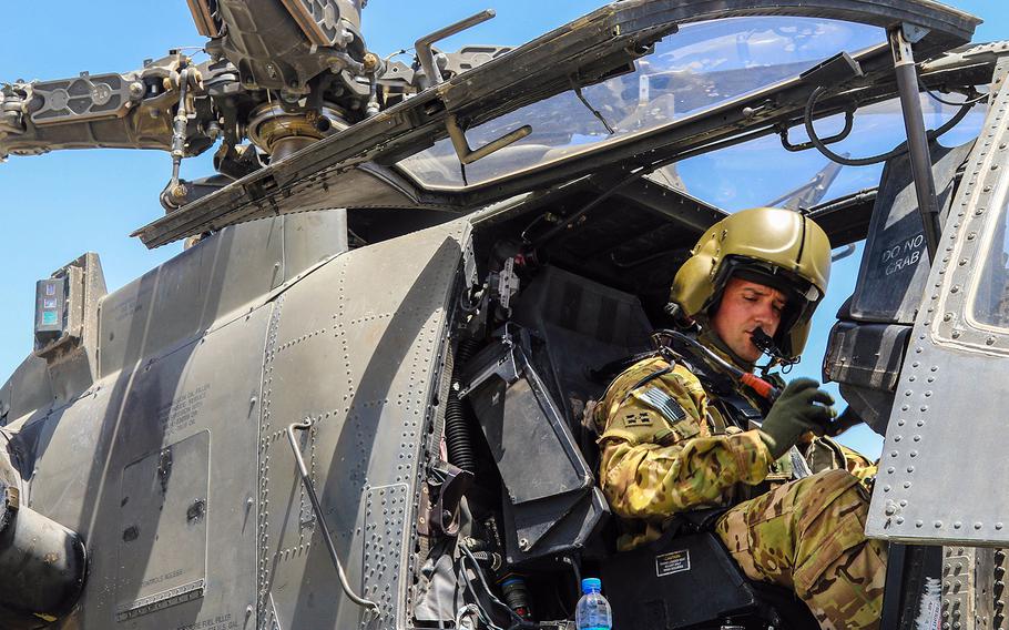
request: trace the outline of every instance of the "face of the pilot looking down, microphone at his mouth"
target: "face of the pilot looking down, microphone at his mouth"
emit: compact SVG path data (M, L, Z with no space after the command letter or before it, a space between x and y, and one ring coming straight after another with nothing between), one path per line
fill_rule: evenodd
M786 296L776 288L741 278L728 278L722 304L711 318L712 328L740 358L751 363L761 358L761 349L751 335L763 328L773 337L782 323Z

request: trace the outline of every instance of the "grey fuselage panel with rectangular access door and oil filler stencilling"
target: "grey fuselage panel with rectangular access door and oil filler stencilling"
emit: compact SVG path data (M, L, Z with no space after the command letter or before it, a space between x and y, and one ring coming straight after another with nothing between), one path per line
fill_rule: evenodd
M8 427L18 431L14 448L31 477L31 507L80 532L88 546L88 582L70 626L224 630L245 623L246 607L255 603L251 454L271 309L258 308L99 380L65 407ZM187 446L196 443L195 450ZM139 475L141 463L161 466L166 448L176 451L164 476L170 500L145 500L136 489L141 477L151 479ZM154 492L161 492L160 478ZM198 499L202 505L194 505ZM128 531L133 525L137 531ZM206 551L188 547L200 540Z

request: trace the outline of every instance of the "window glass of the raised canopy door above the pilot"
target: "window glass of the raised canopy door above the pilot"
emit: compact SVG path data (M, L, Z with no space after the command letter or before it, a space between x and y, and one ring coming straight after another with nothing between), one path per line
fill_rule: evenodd
M840 51L885 41L876 27L813 18L685 24L640 59L634 72L584 88L581 98L571 90L468 130L469 144L477 149L524 124L532 126L523 140L467 165L466 182L487 182L619 142L794 78ZM426 187L463 185L448 140L399 166Z

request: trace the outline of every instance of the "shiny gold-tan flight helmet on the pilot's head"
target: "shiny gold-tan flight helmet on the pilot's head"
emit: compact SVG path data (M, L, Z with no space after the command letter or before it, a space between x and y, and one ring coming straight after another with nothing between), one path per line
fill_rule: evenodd
M830 277L827 234L791 210L753 207L732 214L701 236L691 257L676 272L670 312L707 327L725 283L734 276L788 296L774 342L786 360L797 359Z

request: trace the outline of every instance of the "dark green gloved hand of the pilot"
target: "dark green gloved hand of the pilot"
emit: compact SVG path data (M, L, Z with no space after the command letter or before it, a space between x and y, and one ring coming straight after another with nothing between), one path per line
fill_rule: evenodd
M833 404L834 397L819 389L819 383L812 378L789 383L761 425L761 438L771 456L777 459L785 455L806 431L823 435L836 415Z

